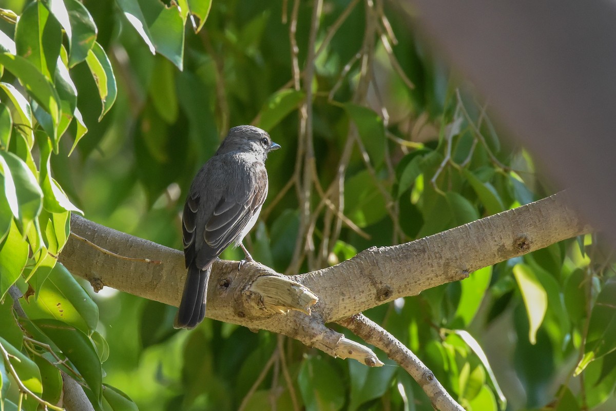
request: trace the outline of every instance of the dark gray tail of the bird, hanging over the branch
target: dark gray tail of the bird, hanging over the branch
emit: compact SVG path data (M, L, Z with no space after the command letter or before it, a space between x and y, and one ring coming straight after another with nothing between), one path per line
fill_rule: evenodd
M212 266L199 269L193 262L188 266L180 309L177 311L174 328L195 328L205 317L205 300L208 290L209 273Z

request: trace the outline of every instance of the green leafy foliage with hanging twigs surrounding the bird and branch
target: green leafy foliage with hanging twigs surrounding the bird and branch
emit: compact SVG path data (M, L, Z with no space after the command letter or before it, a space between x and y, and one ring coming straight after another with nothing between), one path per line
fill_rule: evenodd
M132 401L148 410L431 409L391 362L368 369L208 319L177 332L175 308L108 289L89 297L54 258L68 233L63 222L77 208L90 220L179 249L188 185L238 124L264 128L283 147L267 161L270 196L247 239L253 256L280 272L333 265L372 245L410 241L545 196L549 188L535 175L532 157L501 140L472 85L418 38L408 10L382 0L195 0L180 2L180 13L158 0L86 0L97 49L89 41L92 26L79 14L69 22L83 38L69 46L64 25L63 37L57 35L59 4L84 15L76 0L0 4L23 12L17 29L0 24L9 39L1 42L2 82L30 101L16 104L10 91L0 92L7 199L0 204L0 292L13 281L22 292L34 290L20 300L26 331L4 298L0 343L23 353L30 368L17 371L22 381L33 373L31 390L53 403L61 382L46 362L55 362L51 353L24 340L25 332L51 343L61 358L60 351L76 349L66 367L83 377L95 403L102 375L95 365L102 362L109 385L103 409L131 409ZM198 34L187 7L207 15ZM141 31L135 19L145 23ZM10 39L17 50L7 48ZM66 54L54 65L63 55L60 41ZM98 51L78 62L80 47ZM310 49L321 52L314 57ZM115 104L100 50L115 76ZM39 74L7 60L14 54ZM306 74L312 62L314 75ZM58 130L78 116L54 75L60 65L70 66L83 116L65 134ZM43 83L57 90L62 115L54 117L54 98L43 98L53 93ZM18 110L28 106L31 129ZM102 107L110 110L100 118ZM83 126L87 134L69 157ZM51 175L75 206L54 189ZM613 409L616 287L595 240L554 244L366 314L413 349L467 409ZM222 257L241 258L237 250ZM72 328L54 334L54 321ZM9 373L7 361L0 362L2 401L15 409L19 390ZM26 401L25 409L35 408Z

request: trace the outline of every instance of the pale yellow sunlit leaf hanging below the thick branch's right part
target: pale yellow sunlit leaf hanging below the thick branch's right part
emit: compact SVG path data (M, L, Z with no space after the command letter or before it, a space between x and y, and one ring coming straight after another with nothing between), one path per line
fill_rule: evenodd
M548 309L548 294L530 266L516 264L513 267L513 274L522 293L526 313L529 317L529 341L531 344L535 344L537 342L537 330Z

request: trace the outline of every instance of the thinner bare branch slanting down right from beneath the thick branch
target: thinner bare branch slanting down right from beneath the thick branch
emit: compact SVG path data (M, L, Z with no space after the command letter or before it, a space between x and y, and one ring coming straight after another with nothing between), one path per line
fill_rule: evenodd
M338 324L351 330L357 337L368 344L382 349L389 358L397 362L413 377L428 395L432 406L440 411L464 411L434 377L434 373L419 360L410 349L402 345L393 335L383 329L376 322L371 321L363 314L339 321Z

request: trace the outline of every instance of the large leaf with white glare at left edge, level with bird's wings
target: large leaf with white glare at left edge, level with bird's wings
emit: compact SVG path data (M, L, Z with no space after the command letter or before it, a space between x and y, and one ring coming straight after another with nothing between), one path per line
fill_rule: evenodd
M43 209L43 191L25 162L15 154L0 151L0 166L4 174L4 193L13 215L26 233Z

